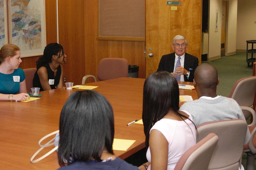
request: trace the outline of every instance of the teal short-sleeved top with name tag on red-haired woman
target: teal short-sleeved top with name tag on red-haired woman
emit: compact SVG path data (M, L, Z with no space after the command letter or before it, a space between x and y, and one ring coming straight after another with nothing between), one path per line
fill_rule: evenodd
M11 74L0 73L0 93L17 94L19 92L19 83L25 79L25 73L21 68L15 69Z

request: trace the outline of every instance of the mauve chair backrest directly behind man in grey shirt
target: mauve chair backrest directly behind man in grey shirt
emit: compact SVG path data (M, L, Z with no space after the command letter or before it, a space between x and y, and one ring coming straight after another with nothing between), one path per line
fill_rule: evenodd
M204 123L197 126L197 131L197 141L202 140L209 133L215 133L219 137L208 169L238 169L247 131L247 123L243 119Z

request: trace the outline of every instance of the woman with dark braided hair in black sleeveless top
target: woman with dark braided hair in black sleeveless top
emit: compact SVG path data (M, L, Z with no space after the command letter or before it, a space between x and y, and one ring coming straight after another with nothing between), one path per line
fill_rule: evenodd
M44 49L44 55L36 61L33 87L40 91L63 87L63 67L66 55L62 45L50 43Z

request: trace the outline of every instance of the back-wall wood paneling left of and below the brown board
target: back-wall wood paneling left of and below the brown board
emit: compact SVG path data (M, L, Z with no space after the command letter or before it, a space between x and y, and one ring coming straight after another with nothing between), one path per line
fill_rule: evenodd
M114 57L125 58L130 65L138 65L139 78L145 78L145 42L97 39L97 15L98 0L87 1L84 6L85 73L96 75L100 60Z

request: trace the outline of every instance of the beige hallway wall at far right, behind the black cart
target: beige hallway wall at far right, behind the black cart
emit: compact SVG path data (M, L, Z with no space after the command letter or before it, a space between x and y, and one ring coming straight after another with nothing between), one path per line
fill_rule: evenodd
M246 40L256 39L256 1L238 0L237 51L246 50ZM251 48L251 47L249 47Z

